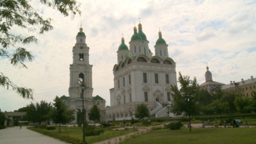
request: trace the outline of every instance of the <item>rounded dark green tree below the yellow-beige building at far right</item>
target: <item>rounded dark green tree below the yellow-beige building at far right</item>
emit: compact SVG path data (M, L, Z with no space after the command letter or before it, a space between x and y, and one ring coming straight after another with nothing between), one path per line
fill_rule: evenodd
M250 100L247 97L236 97L235 100L236 109L240 113L250 113Z

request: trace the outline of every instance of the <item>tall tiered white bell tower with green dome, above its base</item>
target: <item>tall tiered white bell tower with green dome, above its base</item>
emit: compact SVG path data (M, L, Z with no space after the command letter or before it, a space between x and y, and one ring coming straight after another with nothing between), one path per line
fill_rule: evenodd
M89 47L86 44L86 35L83 28L76 35L76 44L72 48L73 62L70 65L70 83L69 96L71 99L82 98L80 85L83 83L87 88L84 90L83 98L85 100L92 98L92 76L89 64Z

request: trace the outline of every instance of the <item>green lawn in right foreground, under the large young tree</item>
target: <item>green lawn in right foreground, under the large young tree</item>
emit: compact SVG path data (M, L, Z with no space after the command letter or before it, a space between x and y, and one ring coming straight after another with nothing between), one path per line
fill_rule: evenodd
M150 131L124 140L127 144L254 144L256 143L256 127L247 128L187 128L181 130L161 129Z

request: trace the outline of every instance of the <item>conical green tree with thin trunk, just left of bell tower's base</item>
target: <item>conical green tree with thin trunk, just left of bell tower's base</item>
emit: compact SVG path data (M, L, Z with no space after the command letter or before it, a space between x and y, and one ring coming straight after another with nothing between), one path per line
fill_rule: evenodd
M61 98L54 99L54 109L52 111L52 118L55 124L59 124L59 132L61 132L61 124L67 124L74 120L72 116L73 111L68 109L68 106L62 102Z

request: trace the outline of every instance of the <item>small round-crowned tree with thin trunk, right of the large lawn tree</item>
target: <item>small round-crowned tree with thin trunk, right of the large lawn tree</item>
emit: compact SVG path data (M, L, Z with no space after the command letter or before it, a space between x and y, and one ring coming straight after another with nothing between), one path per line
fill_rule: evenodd
M221 116L222 113L227 112L228 109L228 102L221 102L221 100L215 100L211 103L215 113Z

